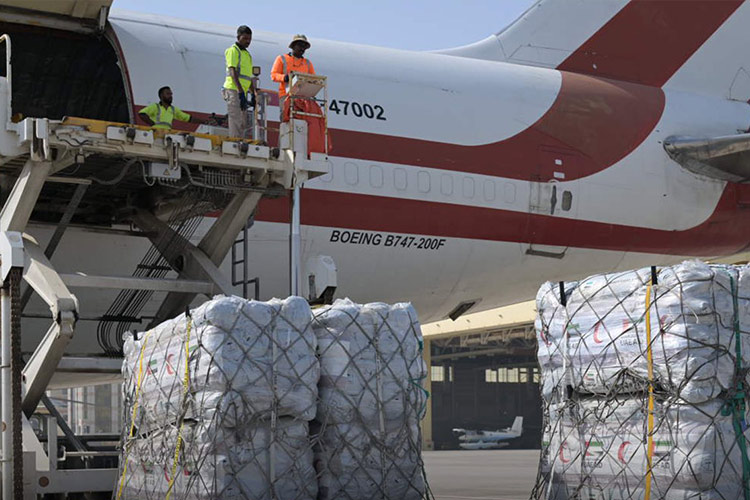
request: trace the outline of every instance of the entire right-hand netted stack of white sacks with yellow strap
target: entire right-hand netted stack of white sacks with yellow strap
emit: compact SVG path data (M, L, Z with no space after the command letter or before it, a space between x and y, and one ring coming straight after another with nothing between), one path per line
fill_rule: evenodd
M546 283L532 499L750 499L750 267Z

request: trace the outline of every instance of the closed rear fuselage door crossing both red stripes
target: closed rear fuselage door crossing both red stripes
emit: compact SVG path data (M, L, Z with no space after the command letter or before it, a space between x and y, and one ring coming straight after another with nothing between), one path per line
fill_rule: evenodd
M562 259L578 215L575 176L580 155L572 150L539 148L537 172L529 191L527 255Z

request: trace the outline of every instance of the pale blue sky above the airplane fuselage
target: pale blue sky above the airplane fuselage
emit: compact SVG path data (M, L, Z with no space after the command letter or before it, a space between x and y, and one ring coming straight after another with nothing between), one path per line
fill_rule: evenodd
M406 50L476 42L502 30L533 0L114 0L113 8L277 33ZM297 9L284 9L297 5Z

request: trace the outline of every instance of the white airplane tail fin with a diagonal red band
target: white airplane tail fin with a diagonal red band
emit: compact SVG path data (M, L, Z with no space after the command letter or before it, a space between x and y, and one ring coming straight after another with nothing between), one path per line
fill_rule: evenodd
M749 23L750 0L537 0L499 33L442 53L743 99Z

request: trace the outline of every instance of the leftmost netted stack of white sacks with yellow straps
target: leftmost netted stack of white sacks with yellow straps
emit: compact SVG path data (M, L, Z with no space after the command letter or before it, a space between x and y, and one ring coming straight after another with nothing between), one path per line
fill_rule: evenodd
M314 500L311 320L299 297L218 297L128 339L118 497Z

